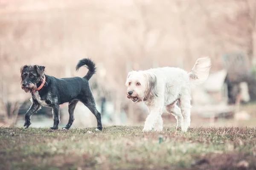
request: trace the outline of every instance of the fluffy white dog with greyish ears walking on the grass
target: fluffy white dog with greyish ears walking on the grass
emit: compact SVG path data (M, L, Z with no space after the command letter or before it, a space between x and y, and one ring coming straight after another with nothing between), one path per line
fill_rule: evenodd
M177 119L176 129L186 132L190 126L190 85L203 83L211 68L209 57L197 59L192 71L187 73L180 68L151 68L145 71L131 71L125 85L127 97L133 102L145 102L149 115L143 132L163 130L161 117L163 108ZM180 108L177 106L179 101Z

